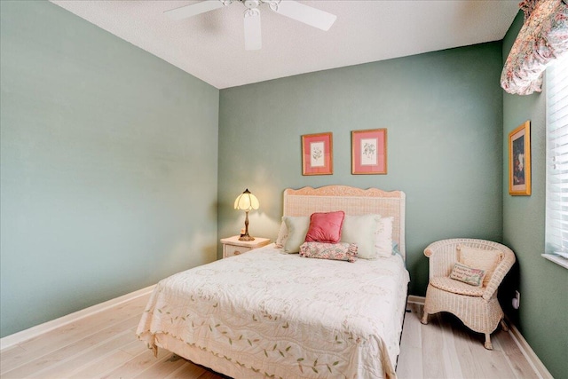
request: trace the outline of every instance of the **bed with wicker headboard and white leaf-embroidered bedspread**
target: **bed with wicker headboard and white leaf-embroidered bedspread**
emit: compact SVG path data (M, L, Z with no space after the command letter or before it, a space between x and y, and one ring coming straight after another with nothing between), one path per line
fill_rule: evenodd
M154 288L138 338L233 378L396 378L409 281L405 194L304 187L285 190L283 204L285 217L391 217L397 254L350 263L272 243L179 272Z

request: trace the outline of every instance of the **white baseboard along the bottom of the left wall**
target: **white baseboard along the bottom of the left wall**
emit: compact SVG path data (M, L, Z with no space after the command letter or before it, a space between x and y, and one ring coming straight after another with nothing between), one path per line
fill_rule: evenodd
M14 333L13 335L0 338L0 351L12 347L15 344L27 341L28 339L35 336L49 332L55 328L60 328L64 325L70 324L71 322L75 322L76 320L91 316L94 313L102 312L118 304L126 303L140 296L145 296L152 292L154 290L154 287L155 284L146 288L138 289L138 291L130 292L130 294L116 297L104 303L95 304L93 306L90 306L89 308L82 309L81 311L67 314L67 316L59 317L59 319L47 321L43 324L36 325L35 327Z

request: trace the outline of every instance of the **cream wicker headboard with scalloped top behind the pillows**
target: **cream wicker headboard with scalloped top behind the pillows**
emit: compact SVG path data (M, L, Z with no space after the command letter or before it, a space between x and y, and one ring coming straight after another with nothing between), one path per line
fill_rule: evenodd
M367 190L351 186L304 187L284 190L284 216L310 216L313 212L343 210L346 215L376 213L394 217L392 240L406 259L405 193L386 192L377 188Z

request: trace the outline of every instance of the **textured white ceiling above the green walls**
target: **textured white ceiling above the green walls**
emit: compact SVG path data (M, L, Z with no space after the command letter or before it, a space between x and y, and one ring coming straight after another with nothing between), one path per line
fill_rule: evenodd
M337 16L327 32L262 4L263 48L245 51L245 7L237 1L177 21L163 12L197 2L51 0L218 89L498 41L518 1L300 1Z

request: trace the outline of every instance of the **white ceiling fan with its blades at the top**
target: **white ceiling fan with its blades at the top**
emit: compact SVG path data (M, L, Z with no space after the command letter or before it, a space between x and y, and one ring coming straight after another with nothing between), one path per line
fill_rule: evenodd
M229 6L233 3L241 3L247 8L244 12L246 50L258 50L262 47L260 10L258 9L261 4L268 4L272 12L326 31L331 28L337 18L334 14L320 11L319 9L300 4L293 0L204 0L164 13L174 20L184 20L201 13Z

